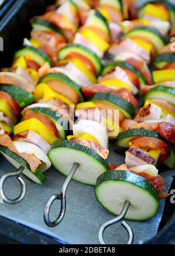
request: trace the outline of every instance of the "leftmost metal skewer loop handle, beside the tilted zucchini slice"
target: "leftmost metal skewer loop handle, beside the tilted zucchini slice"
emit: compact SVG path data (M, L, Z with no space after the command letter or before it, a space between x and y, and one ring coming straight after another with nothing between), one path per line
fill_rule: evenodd
M1 179L0 179L0 197L2 198L3 202L8 203L8 204L17 204L20 203L24 196L26 195L26 184L24 183L24 180L19 176L20 173L22 173L24 170L24 168L22 166L20 166L19 169L17 169L16 172L8 172L5 173ZM15 177L16 179L19 181L20 186L21 186L21 192L19 194L18 197L16 197L15 199L9 199L8 196L6 196L6 194L3 192L3 186L4 183L6 181L6 179L10 178L10 177Z

